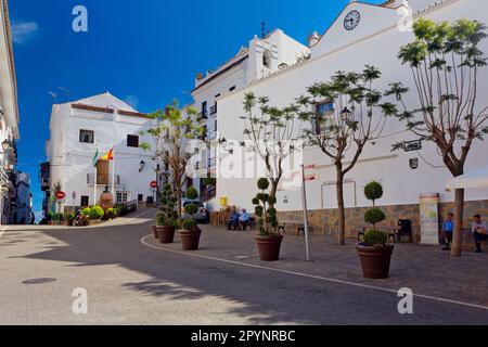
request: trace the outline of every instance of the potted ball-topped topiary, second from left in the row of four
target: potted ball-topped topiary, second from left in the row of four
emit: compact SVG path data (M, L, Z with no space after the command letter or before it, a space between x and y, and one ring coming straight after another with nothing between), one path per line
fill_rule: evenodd
M184 197L193 202L198 197L198 192L193 187L190 187L184 193ZM187 204L184 206L184 213L190 216L190 218L184 219L181 222L182 229L179 230L181 237L181 243L183 245L183 250L196 250L200 245L200 236L202 235L202 230L196 224L193 219L193 215L198 211L198 206L195 204Z

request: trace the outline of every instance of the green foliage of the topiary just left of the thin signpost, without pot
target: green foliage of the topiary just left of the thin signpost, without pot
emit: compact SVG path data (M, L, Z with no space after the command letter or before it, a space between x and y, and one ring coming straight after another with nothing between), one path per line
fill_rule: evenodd
M258 193L256 197L253 198L253 205L255 205L254 213L259 218L258 227L261 236L269 236L272 233L277 233L278 230L278 213L274 208L277 197L266 193L269 185L270 183L267 178L260 178L257 182L257 187L261 190L261 193Z

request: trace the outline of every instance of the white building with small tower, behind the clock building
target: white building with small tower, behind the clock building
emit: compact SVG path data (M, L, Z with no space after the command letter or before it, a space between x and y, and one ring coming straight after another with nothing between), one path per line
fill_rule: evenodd
M223 63L215 70L207 70L205 75L198 74L195 79L195 88L192 91L194 107L203 118L202 125L206 128L207 142L201 152L201 160L195 163L195 169L202 177L216 172L216 144L222 141L218 137L218 124L220 121L231 121L223 119L226 114L220 113L217 100L234 90L248 86L255 80L259 80L305 60L309 54L309 49L300 42L294 40L275 29L262 38L255 36L247 47L241 47L237 54ZM205 192L205 187L201 187L198 179L190 179L190 185L194 185L205 197L215 196L215 188ZM209 207L215 204L210 203Z

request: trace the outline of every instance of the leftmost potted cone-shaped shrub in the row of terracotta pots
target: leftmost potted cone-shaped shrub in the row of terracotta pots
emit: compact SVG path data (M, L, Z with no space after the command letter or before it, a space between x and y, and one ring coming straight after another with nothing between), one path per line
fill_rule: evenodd
M178 226L178 213L175 209L176 197L171 184L165 184L160 197L160 208L156 217L154 236L163 244L175 241L175 231Z

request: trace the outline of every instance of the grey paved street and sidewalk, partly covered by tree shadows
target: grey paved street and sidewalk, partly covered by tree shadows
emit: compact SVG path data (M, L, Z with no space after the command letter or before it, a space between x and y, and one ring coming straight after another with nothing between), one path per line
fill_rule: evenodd
M391 278L368 281L352 243L312 237L307 262L303 236L286 235L283 259L264 264L253 232L205 227L202 249L182 253L147 217L0 233L0 324L488 324L487 254L397 245ZM77 287L88 314L72 311ZM414 314L398 313L400 287Z

